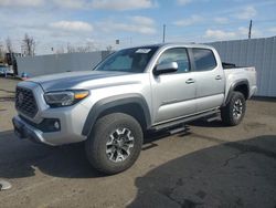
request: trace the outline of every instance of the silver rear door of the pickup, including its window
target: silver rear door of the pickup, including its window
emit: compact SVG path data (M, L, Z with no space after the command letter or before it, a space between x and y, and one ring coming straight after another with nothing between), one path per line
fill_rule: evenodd
M221 64L216 63L211 49L191 49L197 82L197 112L221 106L224 98L225 80Z

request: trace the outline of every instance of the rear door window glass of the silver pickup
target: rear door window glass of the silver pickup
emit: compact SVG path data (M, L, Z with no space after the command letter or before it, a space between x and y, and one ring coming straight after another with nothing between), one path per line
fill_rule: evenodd
M209 71L216 66L213 52L209 49L192 49L195 71Z

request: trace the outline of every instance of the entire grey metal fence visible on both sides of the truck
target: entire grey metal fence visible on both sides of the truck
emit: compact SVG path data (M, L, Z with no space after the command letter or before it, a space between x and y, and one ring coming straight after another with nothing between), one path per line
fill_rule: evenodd
M255 66L257 70L257 95L276 96L276 37L266 39L221 41L208 43L220 53L223 62L240 66ZM108 52L67 53L17 58L19 75L31 76L66 71L93 69Z

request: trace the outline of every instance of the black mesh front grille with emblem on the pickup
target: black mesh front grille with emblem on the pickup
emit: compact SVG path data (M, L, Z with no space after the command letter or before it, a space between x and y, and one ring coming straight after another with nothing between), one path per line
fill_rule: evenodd
M29 117L34 117L38 113L38 105L30 89L17 87L15 107L19 112Z

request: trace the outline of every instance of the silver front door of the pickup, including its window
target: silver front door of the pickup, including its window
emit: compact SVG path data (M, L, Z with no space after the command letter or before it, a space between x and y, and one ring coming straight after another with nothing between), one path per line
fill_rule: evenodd
M151 74L152 110L155 123L162 123L195 112L194 73L185 48L167 49L159 56L157 64L177 62L174 73Z

